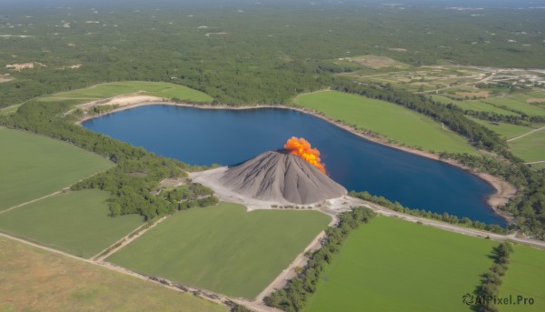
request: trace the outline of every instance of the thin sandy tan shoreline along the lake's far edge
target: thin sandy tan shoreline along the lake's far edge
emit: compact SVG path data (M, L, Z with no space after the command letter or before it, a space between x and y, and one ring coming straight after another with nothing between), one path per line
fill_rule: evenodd
M120 96L120 97L122 97L122 96ZM82 106L85 106L85 105L88 105L88 104L84 104ZM96 104L96 105L99 105L99 104ZM463 166L460 163L458 163L458 162L456 162L456 161L454 161L452 159L442 159L440 156L438 156L436 154L432 154L430 152L425 152L425 151L413 149L413 148L408 147L408 146L400 146L400 145L392 144L390 142L386 142L384 139L381 139L379 137L363 134L363 133L357 131L356 129L354 129L352 126L348 126L348 125L343 124L342 122L332 120L331 118L329 118L327 116L323 116L322 114L320 114L318 112L308 110L308 109L306 109L304 107L280 106L280 105L278 105L278 106L273 106L273 105L227 106L227 105L211 105L211 104L186 104L186 103L170 102L170 101L165 100L165 99L163 99L162 101L158 101L156 99L153 99L153 100L149 100L149 101L143 101L143 102L139 102L139 103L120 106L120 107L117 107L117 108L115 108L115 109L113 109L111 111L104 112L104 113L101 113L101 114L97 114L97 115L94 115L94 116L83 116L83 117L79 118L75 123L77 125L81 126L85 121L88 121L88 120L91 120L91 119L94 119L94 118L97 118L97 117L101 117L101 116L107 116L107 115L114 114L114 113L124 111L124 110L127 110L127 109L132 109L132 108L140 107L140 106L164 106L164 105L166 105L166 106L193 107L193 108L199 108L199 109L233 109L233 110L279 108L279 109L294 110L294 111L301 112L303 114L309 114L309 115L321 118L322 120L324 120L324 121L326 121L326 122L328 122L328 123L330 123L330 124L332 124L334 126L338 126L338 127L342 128L343 130L352 133L355 136L360 136L363 139L366 139L368 141L372 141L373 143L377 143L377 144L380 144L382 146L388 146L388 147L391 147L391 148L399 149L399 150L401 150L403 152L411 153L411 154L416 155L416 156L422 156L422 157L430 158L430 159L433 159L433 160L436 160L436 161L441 161L442 163L445 163L445 164L450 165L450 166L456 166L456 167L458 167L458 168L460 168L460 169L462 169L462 170L464 170L466 172L471 173L474 176L477 176L477 177L481 178L482 180L486 181L490 186L492 186L494 188L494 190L495 190L494 194L492 194L492 195L490 195L490 196L488 196L486 198L487 205L490 207L490 209L492 209L496 215L501 216L503 219L505 219L505 221L507 222L508 225L512 224L514 222L514 220L515 220L515 218L513 216L511 216L509 213L507 213L507 212L505 212L503 210L500 210L499 206L503 206L503 205L507 204L509 202L510 198L517 194L517 189L515 188L515 186L511 186L508 182L500 179L500 177L492 176L490 174L483 173L483 172L478 172L476 170L471 169L471 167L469 167L469 166Z

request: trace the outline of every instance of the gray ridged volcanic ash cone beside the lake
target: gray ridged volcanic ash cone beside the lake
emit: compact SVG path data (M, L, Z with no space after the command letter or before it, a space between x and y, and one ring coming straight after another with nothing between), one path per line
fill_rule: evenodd
M223 186L255 199L308 205L346 195L346 189L300 156L265 152L232 166Z

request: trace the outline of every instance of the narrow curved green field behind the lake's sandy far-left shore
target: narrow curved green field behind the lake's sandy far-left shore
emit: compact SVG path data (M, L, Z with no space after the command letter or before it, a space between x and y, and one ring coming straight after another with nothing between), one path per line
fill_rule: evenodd
M78 103L85 103L106 97L121 96L136 92L143 92L150 96L176 97L181 100L199 103L209 103L213 100L211 96L207 96L203 94L203 92L193 90L187 86L163 82L124 81L57 93L53 96L41 97L40 101L76 100Z

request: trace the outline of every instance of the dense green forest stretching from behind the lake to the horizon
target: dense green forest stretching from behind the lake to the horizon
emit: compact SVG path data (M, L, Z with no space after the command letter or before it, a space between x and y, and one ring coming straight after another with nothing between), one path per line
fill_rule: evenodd
M411 65L545 67L540 10L475 15L320 2L67 6L0 5L0 72L15 77L0 84L0 107L119 80L173 81L223 104L283 104L328 86L331 73L357 69L333 63L351 55ZM5 68L26 62L45 66Z

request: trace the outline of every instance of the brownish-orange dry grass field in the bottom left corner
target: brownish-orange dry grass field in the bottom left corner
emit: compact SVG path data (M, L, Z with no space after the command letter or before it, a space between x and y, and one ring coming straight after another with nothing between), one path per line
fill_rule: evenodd
M190 294L0 237L0 311L228 311Z

